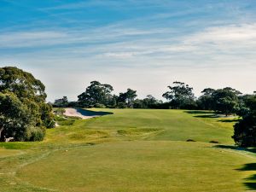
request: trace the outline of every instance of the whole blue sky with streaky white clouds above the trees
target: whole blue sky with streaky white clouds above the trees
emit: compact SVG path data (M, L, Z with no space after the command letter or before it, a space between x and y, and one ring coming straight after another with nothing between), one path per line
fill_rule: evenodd
M256 90L255 0L0 0L0 66L31 72L48 100L92 80L161 98L183 81Z

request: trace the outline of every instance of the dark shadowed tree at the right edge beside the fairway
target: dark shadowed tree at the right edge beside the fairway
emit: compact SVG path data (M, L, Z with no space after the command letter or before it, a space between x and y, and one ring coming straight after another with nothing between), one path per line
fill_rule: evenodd
M256 147L256 96L247 97L245 104L249 110L234 125L233 139L238 146Z

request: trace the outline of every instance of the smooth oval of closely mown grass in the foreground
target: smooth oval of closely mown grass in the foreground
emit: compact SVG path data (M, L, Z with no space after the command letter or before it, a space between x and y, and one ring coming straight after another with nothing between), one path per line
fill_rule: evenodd
M68 192L232 192L242 191L248 174L236 169L251 162L208 143L137 141L59 150L21 169L18 177Z

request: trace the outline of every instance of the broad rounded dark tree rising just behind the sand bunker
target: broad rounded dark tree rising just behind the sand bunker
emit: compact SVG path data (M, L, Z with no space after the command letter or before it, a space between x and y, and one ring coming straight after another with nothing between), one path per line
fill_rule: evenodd
M80 94L79 104L83 107L95 107L96 105L108 105L112 99L113 87L110 84L101 84L98 81L90 82L90 86Z

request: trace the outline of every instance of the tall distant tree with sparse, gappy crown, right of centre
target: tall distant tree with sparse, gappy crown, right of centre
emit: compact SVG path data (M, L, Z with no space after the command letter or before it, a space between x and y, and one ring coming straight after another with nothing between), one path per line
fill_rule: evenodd
M168 86L170 90L163 94L163 97L170 101L172 108L196 108L193 88L182 82L175 81L173 84L174 86Z

